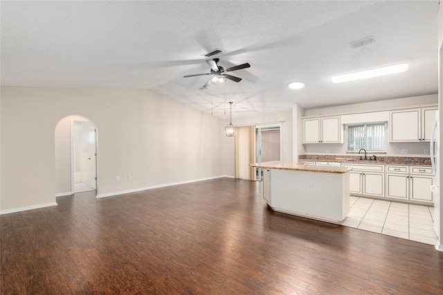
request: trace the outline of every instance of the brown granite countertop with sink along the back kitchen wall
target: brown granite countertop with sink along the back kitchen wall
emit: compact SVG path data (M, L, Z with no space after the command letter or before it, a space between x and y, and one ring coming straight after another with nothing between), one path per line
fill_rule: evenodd
M370 155L368 154L368 158L369 156ZM302 154L298 157L298 161L431 166L431 157L389 157L384 155L377 156L377 161L374 160L370 161L370 160L360 160L360 155L353 156L353 155Z

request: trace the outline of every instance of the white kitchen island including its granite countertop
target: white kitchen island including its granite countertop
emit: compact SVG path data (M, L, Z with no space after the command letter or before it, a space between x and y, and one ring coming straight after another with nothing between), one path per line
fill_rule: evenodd
M338 223L350 209L352 168L271 161L263 169L263 197L274 211Z

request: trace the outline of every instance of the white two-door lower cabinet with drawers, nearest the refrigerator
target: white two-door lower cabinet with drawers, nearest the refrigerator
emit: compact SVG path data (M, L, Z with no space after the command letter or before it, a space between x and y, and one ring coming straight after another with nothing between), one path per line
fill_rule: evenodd
M386 197L432 203L433 182L429 167L386 166Z

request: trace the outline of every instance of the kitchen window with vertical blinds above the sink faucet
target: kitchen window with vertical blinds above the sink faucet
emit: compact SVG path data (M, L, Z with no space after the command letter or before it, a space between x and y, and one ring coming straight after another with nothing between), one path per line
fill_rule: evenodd
M386 150L386 124L347 126L347 150Z

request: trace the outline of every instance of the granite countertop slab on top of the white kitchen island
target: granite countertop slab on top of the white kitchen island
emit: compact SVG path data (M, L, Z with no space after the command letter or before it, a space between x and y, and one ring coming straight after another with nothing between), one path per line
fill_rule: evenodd
M251 163L251 167L265 168L265 169L282 169L282 170L297 170L307 172L326 172L326 173L346 173L350 172L352 168L348 167L330 167L330 166L309 166L296 162L271 161L262 163Z

